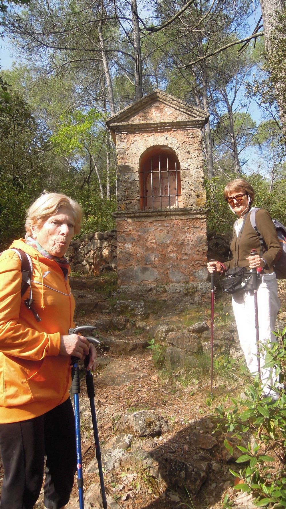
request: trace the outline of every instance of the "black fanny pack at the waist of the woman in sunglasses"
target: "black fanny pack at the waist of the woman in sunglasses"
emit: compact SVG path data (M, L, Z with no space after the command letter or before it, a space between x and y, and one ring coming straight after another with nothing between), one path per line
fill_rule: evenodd
M231 295L240 290L253 292L255 286L258 287L260 283L260 276L257 274L257 285L253 284L255 283L254 275L246 267L234 267L227 270L226 277L221 281L221 287L225 293L230 293Z

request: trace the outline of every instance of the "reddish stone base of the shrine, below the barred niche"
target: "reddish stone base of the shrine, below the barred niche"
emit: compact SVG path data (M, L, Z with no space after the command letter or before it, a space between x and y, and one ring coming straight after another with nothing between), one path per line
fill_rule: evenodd
M172 284L207 279L206 221L184 210L120 217L117 226L117 273L121 284ZM121 214L120 214L121 215ZM204 220L203 220L204 219Z

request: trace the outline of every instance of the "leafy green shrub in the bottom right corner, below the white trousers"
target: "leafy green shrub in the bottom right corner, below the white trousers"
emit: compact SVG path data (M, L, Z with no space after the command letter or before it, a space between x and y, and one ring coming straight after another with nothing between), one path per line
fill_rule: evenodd
M276 335L278 342L266 347L265 366L273 368L281 382L286 379L286 327ZM249 443L246 447L236 446L242 453L236 463L244 464L244 467L239 473L230 470L240 479L240 484L235 483L235 488L252 492L258 507L286 507L286 469L283 460L286 445L286 394L282 391L277 401L264 397L258 376L244 393L246 401L231 398L231 407L225 409L220 405L216 408L220 419L218 427L226 434L225 446L231 455L233 445L230 437L241 440L245 432L255 437L253 446ZM272 467L274 460L279 463L278 467Z

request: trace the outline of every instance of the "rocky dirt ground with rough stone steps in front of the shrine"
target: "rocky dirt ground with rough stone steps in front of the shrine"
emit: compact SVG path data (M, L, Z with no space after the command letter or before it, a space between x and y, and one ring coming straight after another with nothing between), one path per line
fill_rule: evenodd
M252 508L251 498L232 488L234 477L229 468L239 470L235 447L230 456L224 447L225 435L216 431L215 407L227 394L239 395L243 379L238 376L222 381L215 376L210 401L209 375L192 380L176 364L174 375L168 375L154 362L156 351L146 348L152 337L155 344L168 346L174 335L177 343L172 339L172 345L179 346L178 333L182 331L188 337L188 356L195 336L207 348L209 331L200 327L202 323L210 325L209 305L186 308L183 304L170 308L167 302L152 301L148 305L146 301L128 301L124 296L112 295L112 290L100 279L84 280L82 285L75 278L72 285L77 302L76 324L96 326L102 341L98 372L93 379L107 506L110 509L218 509L224 507L227 493L233 497L234 507ZM281 311L286 310L284 293L281 284ZM229 316L230 299L217 294L215 307L219 310L215 317L216 336L231 344L231 355L240 356ZM226 327L221 327L221 322ZM194 323L199 326L194 328ZM220 348L219 341L217 345ZM84 506L100 508L98 465L83 368L80 408ZM247 444L251 437L245 436L243 440ZM43 507L42 494L36 507ZM75 483L67 509L78 507Z

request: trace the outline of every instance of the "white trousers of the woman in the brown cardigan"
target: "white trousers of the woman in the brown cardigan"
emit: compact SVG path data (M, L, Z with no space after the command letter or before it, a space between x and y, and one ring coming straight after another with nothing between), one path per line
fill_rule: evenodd
M276 341L272 333L275 327L277 313L280 308L277 280L275 273L263 274L257 291L259 343L263 345ZM232 306L236 321L239 342L243 350L247 367L251 375L258 373L258 358L255 328L255 304L253 292L239 291L232 297ZM264 369L264 353L260 353L261 381L263 392L271 393L267 385L277 382L274 370Z

